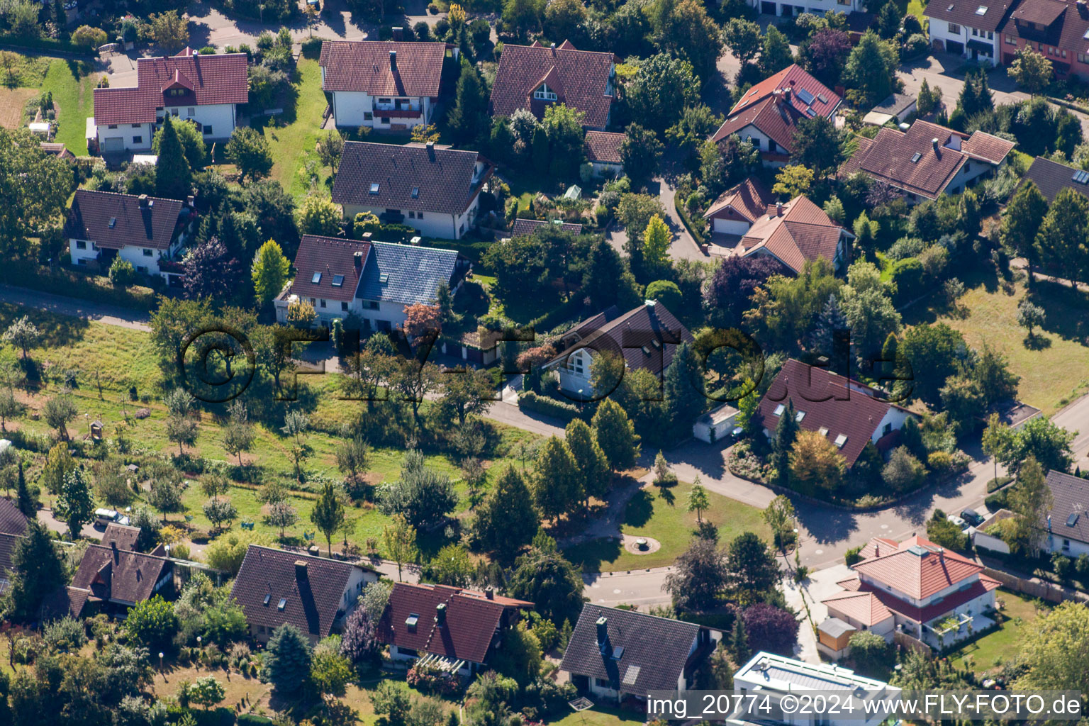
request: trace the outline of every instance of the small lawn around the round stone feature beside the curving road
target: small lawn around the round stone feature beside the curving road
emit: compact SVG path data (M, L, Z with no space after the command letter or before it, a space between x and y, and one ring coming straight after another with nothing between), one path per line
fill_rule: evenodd
M598 539L567 547L564 555L587 573L614 573L641 567L672 565L692 541L696 515L686 512L692 484L659 489L647 484L632 497L624 513L621 531L633 537L652 537L662 543L657 552L635 555L612 539ZM708 493L711 508L703 518L719 528L719 541L729 542L742 532L756 532L766 540L771 530L760 509L721 494Z

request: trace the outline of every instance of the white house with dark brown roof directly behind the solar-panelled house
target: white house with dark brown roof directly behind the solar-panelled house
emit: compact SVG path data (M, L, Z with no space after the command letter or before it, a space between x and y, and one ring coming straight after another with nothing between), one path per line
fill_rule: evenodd
M461 239L476 225L480 192L495 167L476 151L435 144L347 141L332 199L355 219L371 212L427 237Z

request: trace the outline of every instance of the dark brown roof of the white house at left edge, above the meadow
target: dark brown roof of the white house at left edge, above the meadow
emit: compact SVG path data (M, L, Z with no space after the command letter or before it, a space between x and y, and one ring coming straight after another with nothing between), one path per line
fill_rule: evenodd
M176 199L148 197L145 201L132 194L78 189L69 210L66 234L108 249L130 245L168 249L187 221L182 217L185 207Z

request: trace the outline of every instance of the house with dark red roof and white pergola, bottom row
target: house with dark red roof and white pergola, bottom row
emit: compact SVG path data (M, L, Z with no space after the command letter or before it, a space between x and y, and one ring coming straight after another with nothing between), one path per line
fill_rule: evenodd
M445 585L396 582L377 627L390 660L426 663L460 676L487 670L503 630L533 610L524 600Z

